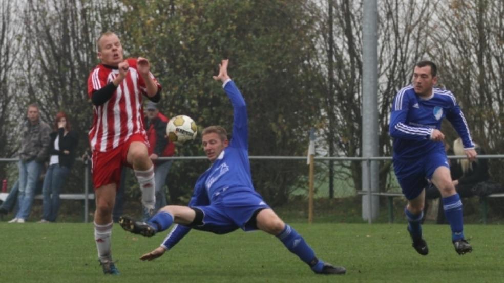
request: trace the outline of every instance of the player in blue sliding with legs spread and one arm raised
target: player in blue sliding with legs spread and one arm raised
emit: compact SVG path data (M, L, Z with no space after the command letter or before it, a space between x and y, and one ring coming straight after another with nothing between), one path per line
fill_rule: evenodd
M228 60L222 60L216 81L222 81L234 110L233 138L221 126L209 126L202 132L202 144L208 168L196 181L188 206L167 205L147 222L122 216L124 230L145 237L175 227L160 247L140 259L154 260L175 246L191 229L224 234L238 228L260 229L275 235L285 247L298 255L317 274L345 274L344 267L319 260L303 237L285 224L263 201L252 184L248 161L248 123L245 101L235 83L227 75Z

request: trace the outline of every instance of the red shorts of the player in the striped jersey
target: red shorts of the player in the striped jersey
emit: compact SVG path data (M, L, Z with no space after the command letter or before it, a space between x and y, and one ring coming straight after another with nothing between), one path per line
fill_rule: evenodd
M107 152L93 151L91 162L91 173L93 174L93 184L96 188L103 185L115 183L117 187L121 181L121 170L123 166L131 167L127 161L128 149L133 141L140 141L149 147L144 135L133 134L122 145Z

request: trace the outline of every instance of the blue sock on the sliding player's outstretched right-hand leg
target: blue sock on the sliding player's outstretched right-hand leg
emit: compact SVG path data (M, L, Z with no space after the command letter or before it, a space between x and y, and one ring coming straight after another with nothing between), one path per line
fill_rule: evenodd
M306 244L303 237L296 230L285 224L285 228L277 235L277 238L282 241L290 252L295 253L303 262L307 263L313 271L322 271L324 262L318 260L315 252Z

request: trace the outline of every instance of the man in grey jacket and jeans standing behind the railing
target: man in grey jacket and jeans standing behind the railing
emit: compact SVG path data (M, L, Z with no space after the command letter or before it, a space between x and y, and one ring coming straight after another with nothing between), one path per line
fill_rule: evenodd
M19 149L19 210L9 223L24 223L30 215L35 187L44 161L49 156L51 127L40 121L37 104L28 106L28 121L21 130L21 147Z

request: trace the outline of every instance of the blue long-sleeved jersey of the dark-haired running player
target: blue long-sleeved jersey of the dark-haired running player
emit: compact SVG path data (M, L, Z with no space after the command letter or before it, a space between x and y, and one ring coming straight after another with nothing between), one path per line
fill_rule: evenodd
M464 148L474 148L464 114L449 90L433 88L430 98L421 98L409 85L397 92L390 114L389 133L393 137L394 159L419 158L427 152L444 152L443 143L430 139L441 128L444 117L462 138Z

